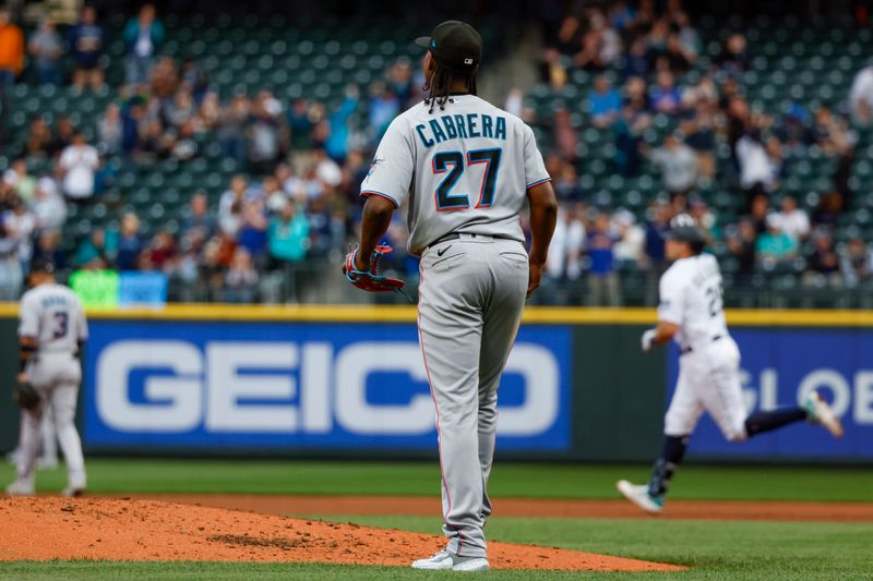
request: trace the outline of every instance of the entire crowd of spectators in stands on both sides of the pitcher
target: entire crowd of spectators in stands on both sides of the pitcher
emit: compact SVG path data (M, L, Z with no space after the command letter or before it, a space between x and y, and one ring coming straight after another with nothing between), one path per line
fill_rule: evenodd
M677 78L706 47L680 1L666 2L662 12L654 5L615 1L606 9L543 15L542 83L560 89L573 71L583 70L597 75L594 88L552 119L538 119L518 90L505 104L548 135L540 145L561 199L550 283L584 280L588 303L622 304L621 274L643 269L657 280L666 267L665 231L683 211L734 257L738 283L758 271L788 271L798 259L810 285L873 278L865 241L853 237L837 244L833 234L852 195L852 128L871 123L873 66L859 71L845 112L827 105L797 105L787 113L753 110L737 81L750 63L743 34L730 35L717 55L708 55L709 69L682 85ZM51 256L65 268L163 271L179 282L171 296L177 300L297 300L295 278L307 278L295 277L297 269L336 262L354 235L358 187L373 147L391 120L421 98L416 66L398 59L363 92L349 85L337 104L284 102L268 89L222 100L195 60L162 53L166 37L154 8L144 5L123 28L124 84L112 87L118 98L97 125L76 128L65 116L49 125L37 114L24 149L4 153L10 166L0 180L0 300L17 296L34 255ZM0 10L0 95L16 82L25 58L36 83L98 89L105 83L104 41L93 8L84 8L63 34L44 21L28 38ZM64 63L72 63L69 77ZM645 219L593 202L578 177L586 160L572 120L579 112L586 125L612 133L618 174L657 169L663 193L650 202ZM354 122L361 114L363 122ZM678 129L662 143L648 143L644 136L657 114L669 116ZM107 159L184 164L203 154L205 142L220 144L240 173L220 195L195 194L178 231L158 228L146 238L142 217L125 214L117 227L96 228L72 249L61 240L67 204L93 204L112 184ZM718 162L720 146L730 148L728 165ZM833 191L822 192L808 213L780 193L780 177L797 152L811 147L834 158L836 172ZM31 174L33 159L51 160L53 170ZM726 222L697 193L716 180L739 196L736 221ZM403 252L406 234L397 218L388 233L398 251L392 265L414 279L417 266Z

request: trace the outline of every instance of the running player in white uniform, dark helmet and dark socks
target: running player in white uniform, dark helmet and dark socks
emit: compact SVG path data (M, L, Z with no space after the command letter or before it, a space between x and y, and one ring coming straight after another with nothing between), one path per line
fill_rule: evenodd
M740 441L806 420L834 436L842 426L830 407L813 391L803 407L749 415L740 382L740 350L728 332L721 304L721 270L703 253L705 238L693 218L678 216L665 243L672 266L660 280L658 326L642 338L643 351L671 339L679 343L679 380L665 417L663 452L648 484L619 481L619 492L648 512L660 512L673 471L682 462L689 438L704 411L725 437Z

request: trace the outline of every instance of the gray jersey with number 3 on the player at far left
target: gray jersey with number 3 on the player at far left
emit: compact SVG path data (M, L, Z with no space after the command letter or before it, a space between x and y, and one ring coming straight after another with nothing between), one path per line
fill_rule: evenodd
M39 352L75 353L88 337L82 302L62 285L39 285L21 299L20 337L36 338Z

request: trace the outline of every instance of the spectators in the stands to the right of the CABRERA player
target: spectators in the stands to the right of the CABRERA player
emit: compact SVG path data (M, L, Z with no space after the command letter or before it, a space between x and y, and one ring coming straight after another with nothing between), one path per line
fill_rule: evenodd
M574 71L594 75L593 88L581 104L558 108L552 119L518 114L542 126L551 138L548 158L555 191L563 202L549 273L557 281L587 278L591 304L621 303L619 274L643 268L659 274L666 267L663 233L680 213L694 216L714 243L734 258L737 285L755 273L794 273L803 285L853 286L873 277L873 253L860 233L837 244L834 229L849 205L856 158L853 126L873 119L873 66L858 72L842 114L826 104L813 109L796 104L784 114L755 110L740 86L751 56L741 32L728 36L693 83L677 78L695 65L704 44L681 2L617 1L589 7L545 21L546 46L540 80L560 92ZM619 175L660 174L662 193L636 223L623 208L591 202L577 177L586 159L579 156L577 112L585 123L612 134L613 165ZM646 130L656 116L667 116L675 130L660 143L649 143ZM719 165L716 150L727 146L730 162ZM780 179L793 160L810 148L833 159L833 189L821 192L812 211L780 192ZM738 216L725 220L698 191L715 180L729 184L738 198ZM733 218L733 217L731 217ZM587 276L585 276L587 275ZM650 276L654 282L656 276ZM654 299L653 289L647 301Z

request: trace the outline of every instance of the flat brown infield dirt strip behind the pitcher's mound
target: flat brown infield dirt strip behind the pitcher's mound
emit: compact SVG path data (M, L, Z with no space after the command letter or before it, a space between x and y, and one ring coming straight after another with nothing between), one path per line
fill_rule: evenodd
M438 498L420 496L155 495L148 498L267 515L439 516ZM500 517L637 519L645 515L615 500L498 498ZM873 522L871 503L671 500L659 519Z

